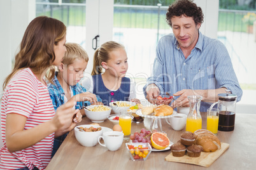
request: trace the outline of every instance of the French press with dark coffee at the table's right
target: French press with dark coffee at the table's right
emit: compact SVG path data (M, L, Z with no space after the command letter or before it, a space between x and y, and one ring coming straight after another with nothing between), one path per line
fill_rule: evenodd
M218 101L210 107L213 108L218 104L219 118L218 131L234 131L235 116L236 116L236 98L238 96L229 94L230 90L226 89L227 93L218 94Z

